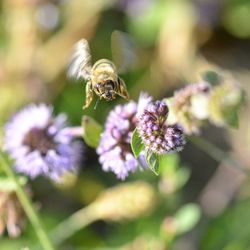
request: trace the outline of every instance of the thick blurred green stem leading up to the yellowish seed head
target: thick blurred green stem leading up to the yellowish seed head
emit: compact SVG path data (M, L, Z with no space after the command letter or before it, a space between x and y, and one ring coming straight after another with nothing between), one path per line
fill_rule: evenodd
M70 236L74 235L77 231L98 219L99 217L94 203L84 207L56 226L56 228L51 232L52 242L55 245L59 245Z

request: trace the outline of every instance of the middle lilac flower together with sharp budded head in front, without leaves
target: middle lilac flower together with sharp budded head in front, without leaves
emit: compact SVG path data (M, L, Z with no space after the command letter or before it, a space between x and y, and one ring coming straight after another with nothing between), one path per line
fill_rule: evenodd
M151 103L152 97L142 93L138 104L131 101L118 105L107 118L97 153L104 171L114 172L124 180L137 169L138 161L145 164L144 152L136 159L130 141L135 128L147 150L157 154L180 151L185 144L178 125L168 126L168 107L163 101Z

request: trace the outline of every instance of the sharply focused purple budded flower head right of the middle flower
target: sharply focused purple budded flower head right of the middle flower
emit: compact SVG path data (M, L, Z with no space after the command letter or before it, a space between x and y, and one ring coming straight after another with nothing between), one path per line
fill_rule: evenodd
M163 101L149 104L138 115L137 129L147 150L157 154L182 150L183 131L177 125L168 126L167 117L168 107Z

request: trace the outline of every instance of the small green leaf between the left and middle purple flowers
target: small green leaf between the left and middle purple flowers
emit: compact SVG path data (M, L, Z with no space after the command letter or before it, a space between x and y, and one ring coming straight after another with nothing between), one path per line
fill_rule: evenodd
M83 139L85 143L93 148L98 147L102 126L89 116L82 117Z

